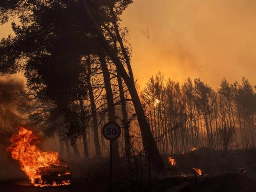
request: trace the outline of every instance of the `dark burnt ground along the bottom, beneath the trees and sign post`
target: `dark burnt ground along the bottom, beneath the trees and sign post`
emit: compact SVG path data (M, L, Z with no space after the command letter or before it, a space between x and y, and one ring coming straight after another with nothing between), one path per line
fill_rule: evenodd
M166 169L151 169L139 160L138 166L126 158L113 163L112 192L255 192L256 151L233 150L223 156L220 151L196 150L173 154L176 166L168 164L168 154L162 154ZM52 192L108 192L110 191L109 159L88 159L67 162L73 172L73 182L62 188L49 188ZM8 164L12 164L9 166ZM192 167L200 168L203 175L195 174ZM240 171L244 168L246 172ZM179 177L180 175L180 177ZM15 185L26 176L15 161L0 164L0 191ZM150 181L150 182L149 182ZM49 189L47 191L49 191ZM17 190L22 192L21 190ZM28 191L26 189L25 191ZM39 191L29 188L29 191ZM43 191L40 189L40 191Z

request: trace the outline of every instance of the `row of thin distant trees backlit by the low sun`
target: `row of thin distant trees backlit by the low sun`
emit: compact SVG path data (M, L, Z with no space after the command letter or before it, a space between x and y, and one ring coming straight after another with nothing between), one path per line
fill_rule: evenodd
M164 153L190 148L255 148L256 91L247 79L213 90L200 78L181 85L159 72L141 92L158 149ZM177 125L179 125L177 127Z

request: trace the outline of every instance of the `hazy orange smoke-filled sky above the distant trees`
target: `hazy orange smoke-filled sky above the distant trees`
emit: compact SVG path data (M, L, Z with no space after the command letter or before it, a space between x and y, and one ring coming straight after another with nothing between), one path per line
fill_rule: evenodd
M140 90L158 71L180 83L201 78L214 89L224 77L256 85L255 0L134 0L121 19ZM10 31L0 26L0 37Z

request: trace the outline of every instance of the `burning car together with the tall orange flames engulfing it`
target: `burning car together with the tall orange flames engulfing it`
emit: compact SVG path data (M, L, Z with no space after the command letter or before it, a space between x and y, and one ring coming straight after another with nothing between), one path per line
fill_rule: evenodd
M10 138L7 148L12 158L19 161L21 170L34 186L62 186L71 184L71 172L66 163L58 159L58 152L43 152L36 147L38 136L23 126ZM62 180L63 178L63 180Z

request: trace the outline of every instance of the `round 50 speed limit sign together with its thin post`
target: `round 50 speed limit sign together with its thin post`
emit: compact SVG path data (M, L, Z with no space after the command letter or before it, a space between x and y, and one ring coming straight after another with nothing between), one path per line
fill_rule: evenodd
M112 141L116 140L120 134L121 129L120 126L115 122L108 122L102 128L102 134L107 139L110 140L110 187L109 191L111 192L112 189Z

